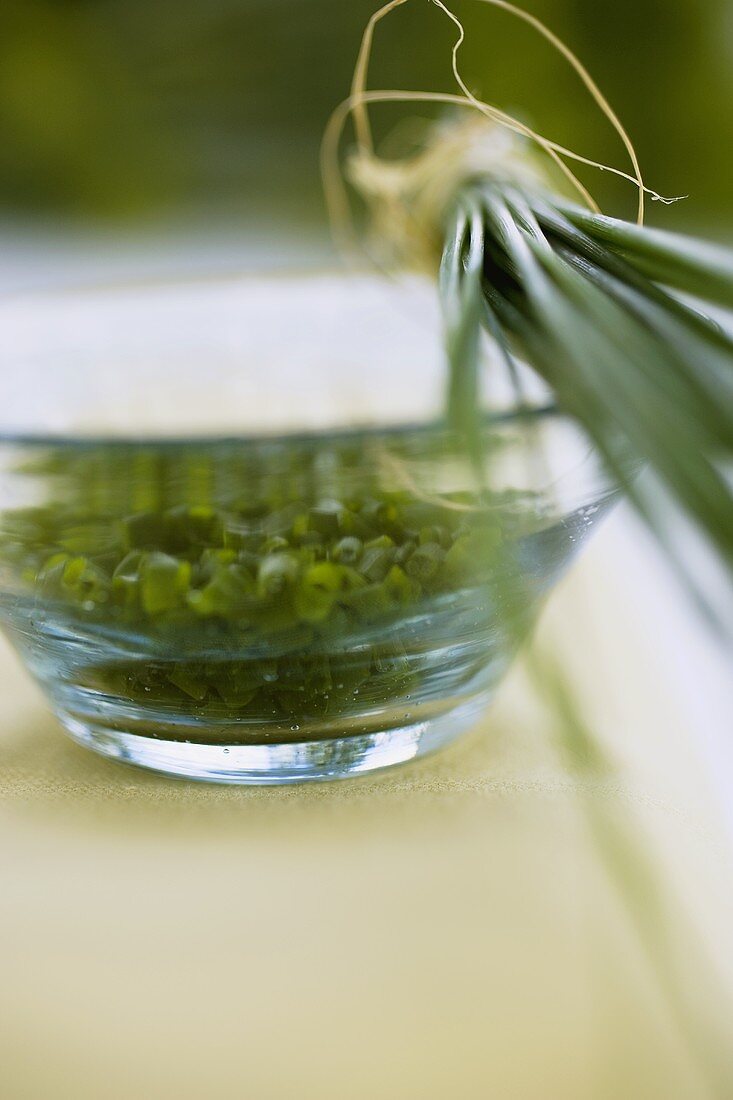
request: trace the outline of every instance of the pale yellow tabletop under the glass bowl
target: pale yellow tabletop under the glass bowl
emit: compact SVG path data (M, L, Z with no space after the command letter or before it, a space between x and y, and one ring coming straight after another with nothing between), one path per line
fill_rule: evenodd
M591 756L518 669L417 765L186 784L66 740L3 647L0 1096L733 1097L733 723L635 553L614 518L540 629Z

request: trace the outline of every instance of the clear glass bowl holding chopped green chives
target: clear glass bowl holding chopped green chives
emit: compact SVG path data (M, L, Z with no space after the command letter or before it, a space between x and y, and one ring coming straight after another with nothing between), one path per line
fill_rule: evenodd
M7 298L0 615L62 725L174 776L430 751L486 705L615 495L488 371L439 418L427 285L230 279Z

